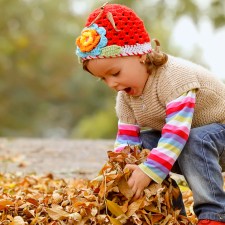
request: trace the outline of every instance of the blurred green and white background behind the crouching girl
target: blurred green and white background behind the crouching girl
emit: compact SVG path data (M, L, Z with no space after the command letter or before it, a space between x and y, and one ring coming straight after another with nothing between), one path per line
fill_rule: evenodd
M75 38L105 1L0 0L0 136L115 138L116 93L82 71ZM225 1L117 0L162 50L225 80Z

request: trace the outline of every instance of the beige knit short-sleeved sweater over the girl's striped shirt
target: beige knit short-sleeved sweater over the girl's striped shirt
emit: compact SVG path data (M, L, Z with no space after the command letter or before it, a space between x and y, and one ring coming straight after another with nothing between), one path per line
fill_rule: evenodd
M173 56L149 76L142 96L118 92L117 116L122 123L162 130L166 104L191 89L197 89L192 127L225 123L225 84L203 67Z

